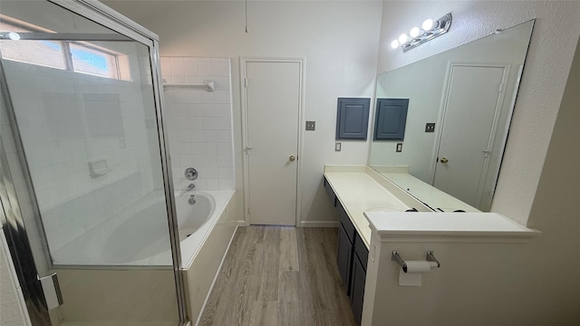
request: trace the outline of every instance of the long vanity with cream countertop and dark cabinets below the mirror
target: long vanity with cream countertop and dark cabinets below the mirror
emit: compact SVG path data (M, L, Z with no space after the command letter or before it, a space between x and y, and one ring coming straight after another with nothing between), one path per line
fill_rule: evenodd
M412 208L429 212L430 209L366 166L324 167L324 189L338 211L336 264L353 308L354 320L360 325L372 235L364 212L404 212Z

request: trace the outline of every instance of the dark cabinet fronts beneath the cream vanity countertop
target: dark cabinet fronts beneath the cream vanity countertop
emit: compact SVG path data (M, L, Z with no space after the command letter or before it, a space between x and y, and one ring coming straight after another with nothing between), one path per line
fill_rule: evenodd
M343 279L344 291L348 295L353 308L354 320L357 325L360 325L369 250L362 242L361 236L357 233L348 214L346 214L342 203L334 195L333 189L326 181L326 178L324 178L324 188L333 199L334 206L340 215L336 264Z

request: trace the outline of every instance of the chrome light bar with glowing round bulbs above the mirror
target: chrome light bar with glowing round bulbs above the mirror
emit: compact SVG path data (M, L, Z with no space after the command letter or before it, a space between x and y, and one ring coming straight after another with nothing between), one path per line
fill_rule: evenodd
M402 52L405 53L414 47L419 46L422 43L428 42L437 36L446 34L451 26L451 13L446 14L440 19L434 21L432 19L427 19L421 24L421 28L413 27L409 34L401 34L399 39L393 40L391 42L391 47L393 49L402 48Z

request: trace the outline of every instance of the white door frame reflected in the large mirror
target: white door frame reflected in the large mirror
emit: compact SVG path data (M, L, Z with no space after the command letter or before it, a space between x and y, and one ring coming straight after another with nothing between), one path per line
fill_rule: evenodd
M499 124L499 120L501 117L501 113L503 112L503 110L505 110L505 99L506 99L506 90L507 90L507 82L509 80L509 73L511 72L511 63L509 62L463 62L463 61L449 61L447 63L447 70L445 72L445 83L443 85L443 91L441 93L441 102L440 102L440 113L439 113L439 118L437 121L437 124L440 126L439 129L435 130L435 141L433 143L433 152L431 154L431 163L430 163L430 184L431 186L434 185L435 183L435 172L437 169L437 163L438 163L438 159L439 158L439 151L440 151L440 146L441 146L441 137L443 134L443 129L445 128L445 119L446 119L446 115L447 115L447 105L449 102L449 88L450 88L450 82L451 82L451 72L453 70L454 67L489 67L489 68L503 68L504 72L501 78L501 89L499 91L500 95L498 98L498 101L496 103L496 111L494 112L494 117L493 117L493 122L491 124L491 130L489 132L489 138L488 138L488 149L491 148L491 153L497 153L498 150L501 150L503 153L503 147L500 149L496 149L493 147L493 144L495 142L495 139L498 137L498 124ZM510 109L513 111L513 109ZM509 113L509 117L507 117L507 121L511 120L511 114L512 112L510 111ZM507 134L507 129L508 129L509 124L507 124L506 127L506 134ZM507 137L506 135L502 135L502 137ZM498 162L501 162L501 159L503 158L503 154L500 153L500 155L498 155L497 159ZM482 199L482 195L483 195L483 187L485 187L486 182L481 182L482 180L485 181L488 177L488 173L489 173L489 156L485 159L484 161L484 165L482 168L482 171L484 171L484 173L482 173L479 177L479 186L478 186L478 191L477 191L477 206L479 206L481 204L481 199ZM495 189L495 183L494 183L494 189ZM493 191L493 190L492 190Z

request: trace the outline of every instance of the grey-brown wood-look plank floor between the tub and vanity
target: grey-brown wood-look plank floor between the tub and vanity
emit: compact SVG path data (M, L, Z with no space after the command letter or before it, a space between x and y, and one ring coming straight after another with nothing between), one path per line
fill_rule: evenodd
M335 228L239 227L201 325L354 325Z

